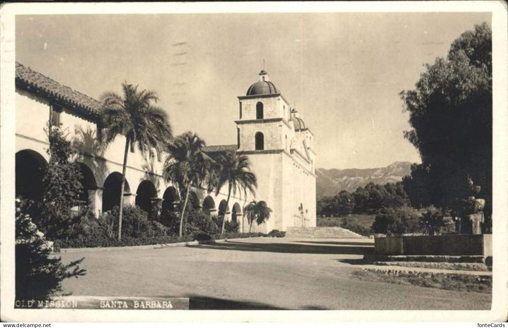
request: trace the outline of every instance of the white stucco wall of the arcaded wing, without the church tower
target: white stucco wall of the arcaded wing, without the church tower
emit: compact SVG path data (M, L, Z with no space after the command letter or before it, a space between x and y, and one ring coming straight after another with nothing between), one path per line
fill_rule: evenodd
M49 147L49 143L44 129L47 126L50 115L49 101L33 93L16 89L15 106L16 152L21 150L33 150L48 161L49 157L46 151ZM60 114L60 128L67 134L69 140L73 141L76 138L82 139L80 134L77 133L77 129L82 129L85 132L90 130L96 133L96 124L73 115L73 112L69 111L67 108L62 109L63 112ZM108 145L103 154L96 154L100 155L101 158L78 155L75 156L74 160L84 163L92 171L96 184L101 189L109 174L113 172L121 173L124 147L125 138L123 136L118 136ZM92 152L91 149L85 151ZM130 193L132 196L125 196L124 201L126 203L135 202L138 186L144 180L152 181L157 191L156 197L163 198L166 189L172 186L171 183L166 183L162 178L165 159L166 155L164 153L162 154L161 162L158 162L156 155L153 158L148 158L148 156L146 156L145 159L137 150L135 150L134 153L129 151L125 179L129 185L130 192L125 191L125 193ZM154 174L148 174L148 172ZM194 190L199 196L201 205L207 193L203 190ZM223 188L218 195L212 193L210 196L215 200L218 206L221 200L227 198L227 189ZM97 195L93 197L95 199L90 198L90 201L93 203L96 214L99 214L102 211L102 191L99 190ZM234 203L239 203L241 208L244 207L245 200L239 199L238 197L239 194L236 197L234 195L231 196L230 208L232 208Z

